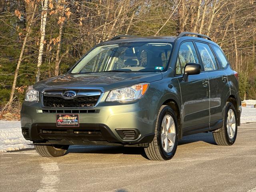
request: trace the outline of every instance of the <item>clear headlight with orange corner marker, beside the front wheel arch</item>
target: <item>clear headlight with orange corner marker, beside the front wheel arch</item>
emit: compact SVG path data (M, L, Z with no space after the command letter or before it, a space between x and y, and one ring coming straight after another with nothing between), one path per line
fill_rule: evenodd
M106 101L135 101L140 99L148 89L149 83L140 83L126 88L120 88L110 91Z

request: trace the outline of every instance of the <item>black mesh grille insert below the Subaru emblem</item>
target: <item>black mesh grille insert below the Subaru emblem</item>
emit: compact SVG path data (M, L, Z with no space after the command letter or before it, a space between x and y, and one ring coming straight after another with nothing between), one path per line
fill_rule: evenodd
M99 95L78 97L74 99L43 96L43 104L45 107L94 107L99 98Z

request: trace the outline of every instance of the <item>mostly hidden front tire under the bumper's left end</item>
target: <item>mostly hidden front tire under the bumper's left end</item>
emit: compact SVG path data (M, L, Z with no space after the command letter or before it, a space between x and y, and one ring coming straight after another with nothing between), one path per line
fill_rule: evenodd
M60 157L63 156L69 145L39 145L34 144L36 152L42 157Z

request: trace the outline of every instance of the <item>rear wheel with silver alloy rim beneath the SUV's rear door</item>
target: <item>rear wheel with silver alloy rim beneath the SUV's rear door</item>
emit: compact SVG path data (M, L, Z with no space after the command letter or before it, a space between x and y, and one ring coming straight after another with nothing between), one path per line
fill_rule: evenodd
M222 128L212 132L217 145L229 146L234 144L237 135L236 109L231 102L226 102L224 123Z

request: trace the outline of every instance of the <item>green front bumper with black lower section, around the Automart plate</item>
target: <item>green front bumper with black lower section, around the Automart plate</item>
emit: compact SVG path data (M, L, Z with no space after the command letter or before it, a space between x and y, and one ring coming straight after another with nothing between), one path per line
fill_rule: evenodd
M157 108L149 106L146 98L126 104L100 102L90 109L95 112L84 110L78 113L78 128L56 127L54 109L42 108L40 102L24 102L21 110L22 132L27 133L24 137L34 143L48 144L138 144L149 143L154 138ZM135 130L137 135L128 140L118 130Z

